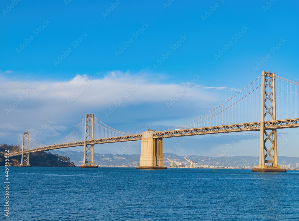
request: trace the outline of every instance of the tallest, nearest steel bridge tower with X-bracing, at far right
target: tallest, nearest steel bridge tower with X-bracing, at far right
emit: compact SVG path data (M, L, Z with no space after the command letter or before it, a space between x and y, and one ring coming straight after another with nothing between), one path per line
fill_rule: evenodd
M261 119L260 119L260 161L253 172L286 172L278 165L277 157L277 132L276 129L266 130L265 119L276 120L275 103L275 73L262 72L261 93ZM265 113L266 111L266 113ZM270 147L268 149L268 147ZM265 154L266 151L266 154ZM267 159L268 157L268 159ZM269 159L270 157L270 159ZM271 163L267 166L265 163Z

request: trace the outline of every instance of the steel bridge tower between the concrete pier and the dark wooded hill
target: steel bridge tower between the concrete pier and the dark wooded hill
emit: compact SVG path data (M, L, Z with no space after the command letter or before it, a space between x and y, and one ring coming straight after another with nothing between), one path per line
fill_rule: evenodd
M97 168L97 166L94 164L94 147L93 145L86 144L87 140L93 140L93 139L94 139L94 115L90 113L86 113L83 164L79 167Z

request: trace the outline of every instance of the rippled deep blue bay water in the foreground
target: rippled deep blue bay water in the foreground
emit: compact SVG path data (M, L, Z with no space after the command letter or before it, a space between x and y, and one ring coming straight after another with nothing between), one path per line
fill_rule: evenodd
M10 167L9 178L3 220L299 220L299 171Z

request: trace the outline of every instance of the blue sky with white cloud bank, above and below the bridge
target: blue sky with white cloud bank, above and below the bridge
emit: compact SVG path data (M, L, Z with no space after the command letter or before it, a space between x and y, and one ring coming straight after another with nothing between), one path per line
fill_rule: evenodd
M151 129L167 129L212 110L231 88L244 88L263 70L296 79L298 4L280 0L2 1L0 143L14 144L23 131L37 133L49 119L53 123L37 139L57 142L85 113L94 113L120 131L132 133L148 124ZM110 13L109 7L113 7ZM267 54L271 57L257 68ZM161 60L163 55L166 59ZM168 108L166 102L194 76L199 76L197 87ZM5 109L33 81L37 87L7 114ZM88 87L87 81L92 82ZM107 117L105 112L133 84L140 86ZM69 105L67 99L82 86L86 90ZM299 156L298 130L280 134L278 139L292 139L279 155ZM218 156L235 136L191 137L174 152ZM179 141L164 139L164 152ZM96 151L118 153L123 145L97 145ZM258 133L248 132L227 155L257 156L258 145ZM126 153L140 153L140 143Z

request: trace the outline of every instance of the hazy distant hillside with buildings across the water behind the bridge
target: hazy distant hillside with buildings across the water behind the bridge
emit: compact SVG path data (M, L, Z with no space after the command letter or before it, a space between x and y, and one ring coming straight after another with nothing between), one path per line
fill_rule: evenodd
M52 154L59 154L69 157L76 165L81 165L83 161L83 152L78 151L59 151L52 150ZM179 156L171 153L164 153L164 166L169 166L169 162L166 158L176 161L186 162L183 156ZM185 156L187 159L197 162L197 165L211 165L219 167L245 167L257 165L259 157L257 156L222 156L222 157L210 157L210 156ZM278 156L278 163L296 164L299 163L299 157ZM140 161L140 154L94 154L94 162L97 165L115 165L115 166L138 166Z

